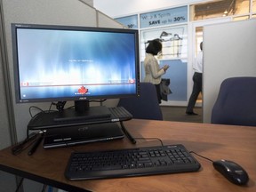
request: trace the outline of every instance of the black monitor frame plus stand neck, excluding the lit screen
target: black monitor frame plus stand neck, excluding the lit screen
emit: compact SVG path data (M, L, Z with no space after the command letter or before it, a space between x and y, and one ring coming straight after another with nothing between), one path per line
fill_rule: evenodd
M96 32L110 32L110 33L131 33L134 35L134 49L135 49L135 84L136 84L136 92L132 94L109 94L109 95L98 95L98 96L82 96L82 97L63 97L63 98L44 98L44 99L29 99L29 100L20 100L20 79L19 79L19 59L18 59L18 44L17 44L17 28L33 28L33 29L50 29L50 30L82 30L82 31L96 31ZM13 54L13 70L14 70L14 85L15 85L15 99L16 103L29 103L29 102L47 102L47 101L58 101L65 105L66 101L74 101L75 102L75 110L70 113L68 111L68 119L70 117L76 120L76 117L81 119L81 116L90 116L90 100L105 100L105 99L119 99L123 97L137 97L140 95L140 50L139 50L139 32L136 29L126 29L126 28L93 28L93 27L78 27L78 26L59 26L59 25L37 25L37 24L19 24L12 23L12 54ZM64 106L61 107L57 118L60 117L66 118L67 111L63 113ZM97 113L101 111L97 109ZM103 114L101 116L106 115L106 109L103 109ZM62 116L65 115L65 116ZM56 118L56 116L54 118ZM93 116L95 116L95 111L93 112ZM107 114L108 116L108 114Z

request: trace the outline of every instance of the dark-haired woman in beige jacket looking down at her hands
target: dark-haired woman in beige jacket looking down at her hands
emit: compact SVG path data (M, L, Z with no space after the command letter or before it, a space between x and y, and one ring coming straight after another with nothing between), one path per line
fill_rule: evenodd
M161 76L164 75L165 71L169 68L168 65L164 65L163 68L159 67L156 55L162 52L162 44L158 39L149 41L148 47L146 48L147 56L144 60L145 78L144 82L148 82L156 85L156 93L158 103L161 103L161 92L160 83Z

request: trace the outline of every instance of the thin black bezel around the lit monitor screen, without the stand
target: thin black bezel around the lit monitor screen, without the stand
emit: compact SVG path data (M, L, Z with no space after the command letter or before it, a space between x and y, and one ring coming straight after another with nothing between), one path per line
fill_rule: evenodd
M63 25L42 25L42 24L20 24L12 23L12 60L13 60L13 74L14 74L14 94L16 103L32 103L32 102L54 102L54 101L76 101L76 100L105 100L105 99L120 99L125 97L140 96L140 43L139 31L130 28L96 28L87 26L63 26ZM57 29L57 30L80 30L80 31L96 31L96 32L114 32L114 33L131 33L134 34L135 43L135 79L136 92L131 94L109 94L97 96L80 96L80 97L61 97L61 98L44 98L44 99L29 99L23 100L20 97L20 77L19 77L19 60L17 48L17 29L18 28L33 28L33 29Z

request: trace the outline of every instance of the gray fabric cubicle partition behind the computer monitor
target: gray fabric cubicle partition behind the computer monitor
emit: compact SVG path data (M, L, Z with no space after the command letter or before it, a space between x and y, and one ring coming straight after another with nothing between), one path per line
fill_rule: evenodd
M102 12L92 7L92 0L1 0L1 57L0 57L0 148L10 146L15 141L25 139L30 119L28 108L31 105L46 109L50 103L16 104L14 98L11 23L31 23L49 25L72 25L89 27L123 28ZM4 42L4 43L3 43ZM4 52L5 51L5 52ZM6 60L4 60L6 59ZM7 69L6 69L7 68ZM6 102L6 99L10 101ZM11 122L11 125L10 123ZM10 131L10 127L12 130ZM11 140L12 138L12 140ZM0 172L0 190L15 190L15 178ZM39 191L41 185L25 181L25 191Z

